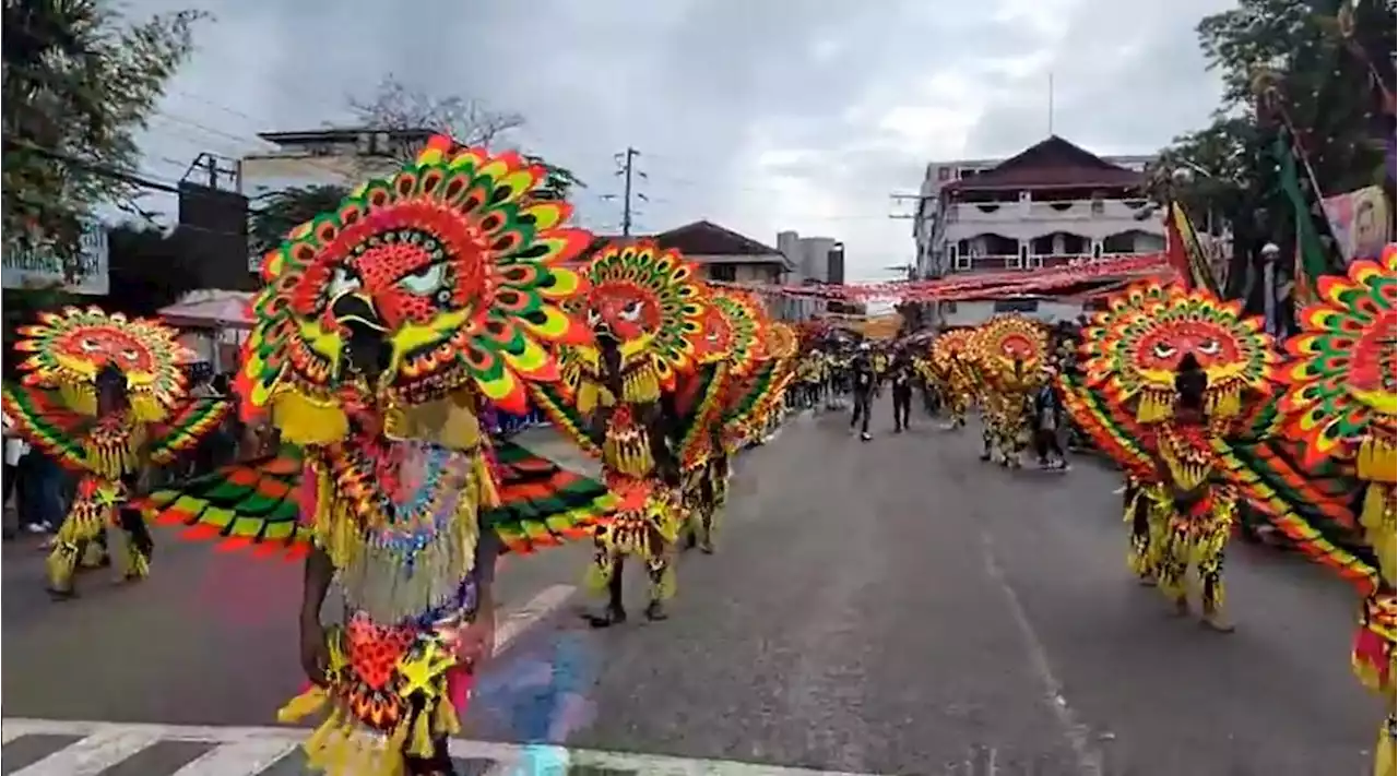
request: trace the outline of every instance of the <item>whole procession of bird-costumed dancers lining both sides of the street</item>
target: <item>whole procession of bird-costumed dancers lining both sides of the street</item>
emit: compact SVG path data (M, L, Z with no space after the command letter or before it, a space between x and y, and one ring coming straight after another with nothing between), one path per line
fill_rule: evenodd
M292 231L263 263L236 405L187 393L193 354L161 323L69 308L24 327L4 411L80 475L50 593L78 593L109 529L131 582L151 573L148 524L296 559L312 685L280 716L319 714L312 766L450 773L502 554L590 540L590 622L628 619L628 558L646 570L643 617L665 619L681 536L714 549L737 452L822 405L849 407L868 440L885 389L902 432L921 389L952 433L977 411L981 457L1007 468L1030 447L1065 468L1069 428L1110 456L1131 572L1213 631L1233 628L1223 558L1240 509L1350 580L1355 670L1390 702L1376 775L1398 776L1398 246L1325 278L1285 343L1160 278L1117 292L1081 337L1005 315L871 344L774 320L644 239L596 249L545 180L514 152L438 137ZM485 433L489 412L528 407L601 477ZM277 452L151 487L233 411ZM326 626L331 586L344 611Z

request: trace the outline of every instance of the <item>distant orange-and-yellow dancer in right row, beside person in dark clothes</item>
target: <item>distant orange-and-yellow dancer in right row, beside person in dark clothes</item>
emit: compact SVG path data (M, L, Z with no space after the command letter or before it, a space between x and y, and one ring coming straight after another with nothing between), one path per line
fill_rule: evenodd
M1048 331L1022 316L995 316L970 336L969 348L984 385L983 411L988 415L981 460L998 454L1000 464L1022 466L1029 436L1030 397L1047 380Z

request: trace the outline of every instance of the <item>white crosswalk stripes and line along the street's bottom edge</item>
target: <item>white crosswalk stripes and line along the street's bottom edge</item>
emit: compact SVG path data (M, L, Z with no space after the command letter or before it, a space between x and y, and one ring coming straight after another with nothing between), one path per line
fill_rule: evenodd
M157 741L215 745L204 756L172 776L257 776L291 752L306 735L295 727L208 727L180 724L117 724L73 720L4 719L0 724L11 738L21 735L82 737L78 742L14 773L14 776L98 776ZM92 752L115 754L82 761ZM140 747L136 747L140 742ZM815 770L726 759L691 759L668 755L570 749L552 745L495 744L453 738L452 756L492 761L489 776L537 776L565 773L568 768L633 772L637 776L878 776L849 770ZM274 755L274 752L281 755ZM74 754L75 752L75 754ZM242 759L239 759L242 758ZM274 758L274 759L268 759ZM95 768L95 769L94 769ZM154 776L154 775L152 775Z

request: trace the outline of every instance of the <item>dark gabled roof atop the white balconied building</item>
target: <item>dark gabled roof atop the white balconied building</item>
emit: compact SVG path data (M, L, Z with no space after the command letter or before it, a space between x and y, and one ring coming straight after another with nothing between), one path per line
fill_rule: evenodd
M1051 134L1000 165L973 178L963 178L946 189L956 192L1043 186L1121 189L1144 183L1142 173L1117 166L1081 145Z

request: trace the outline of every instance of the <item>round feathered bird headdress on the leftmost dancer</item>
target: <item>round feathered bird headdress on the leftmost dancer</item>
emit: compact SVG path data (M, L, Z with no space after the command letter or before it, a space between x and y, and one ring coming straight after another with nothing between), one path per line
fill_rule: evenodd
M32 354L20 364L24 385L57 391L82 415L96 415L96 379L110 368L126 378L136 417L162 421L185 396L180 365L194 361L169 326L99 308L39 313L39 323L21 326L20 334L25 338L15 350Z

